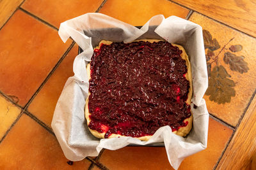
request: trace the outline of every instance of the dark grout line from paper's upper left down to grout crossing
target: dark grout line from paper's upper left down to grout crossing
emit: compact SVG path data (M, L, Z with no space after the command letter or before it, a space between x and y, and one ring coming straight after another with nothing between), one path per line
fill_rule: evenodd
M68 54L68 52L70 52L70 50L72 49L72 47L75 45L75 42L73 41L71 43L70 46L68 46L67 50L65 51L65 53L63 53L63 55L61 56L61 58L58 60L58 62L55 64L55 66L52 68L52 70L50 71L49 74L47 74L45 80L41 83L41 85L38 87L38 89L36 90L36 92L33 94L33 96L29 99L28 103L24 106L24 110L27 110L29 104L31 104L31 102L33 101L33 99L35 99L35 97L37 96L38 92L42 89L42 87L44 87L45 83L47 82L47 80L49 80L49 78L51 77L51 75L54 73L54 71L58 68L58 66L60 65L60 63L62 62L63 59L65 59L66 55Z

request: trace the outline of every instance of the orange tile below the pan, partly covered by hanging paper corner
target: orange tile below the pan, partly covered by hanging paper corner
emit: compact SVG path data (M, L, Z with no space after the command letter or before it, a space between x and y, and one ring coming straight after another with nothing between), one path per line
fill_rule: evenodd
M184 159L179 169L212 169L231 134L231 129L210 118L207 148ZM99 162L109 169L172 169L164 147L127 146L115 151L105 150Z

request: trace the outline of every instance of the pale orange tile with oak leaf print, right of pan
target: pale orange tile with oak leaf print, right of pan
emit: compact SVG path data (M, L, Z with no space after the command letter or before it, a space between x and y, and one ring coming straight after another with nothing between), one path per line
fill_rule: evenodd
M236 126L256 89L256 83L252 83L256 80L256 39L198 13L193 13L189 20L201 25L212 36L212 41L209 36L208 42L205 41L205 46L211 46L213 50L208 54L210 60L207 62L211 64L211 89L205 95L208 111ZM213 43L213 39L218 41L219 46ZM237 52L230 50L231 46L234 48L236 45L239 46ZM208 49L205 49L206 55ZM218 64L214 61L216 58ZM214 73L217 68L220 70Z

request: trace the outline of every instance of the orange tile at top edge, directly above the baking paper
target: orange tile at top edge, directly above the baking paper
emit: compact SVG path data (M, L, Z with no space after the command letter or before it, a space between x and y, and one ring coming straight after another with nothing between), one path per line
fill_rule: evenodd
M167 0L119 1L108 0L99 11L134 26L146 24L154 15L176 15L186 18L189 10Z

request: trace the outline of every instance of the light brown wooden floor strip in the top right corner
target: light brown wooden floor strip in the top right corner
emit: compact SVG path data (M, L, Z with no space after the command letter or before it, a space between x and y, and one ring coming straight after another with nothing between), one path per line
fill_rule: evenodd
M255 1L173 1L256 37Z

